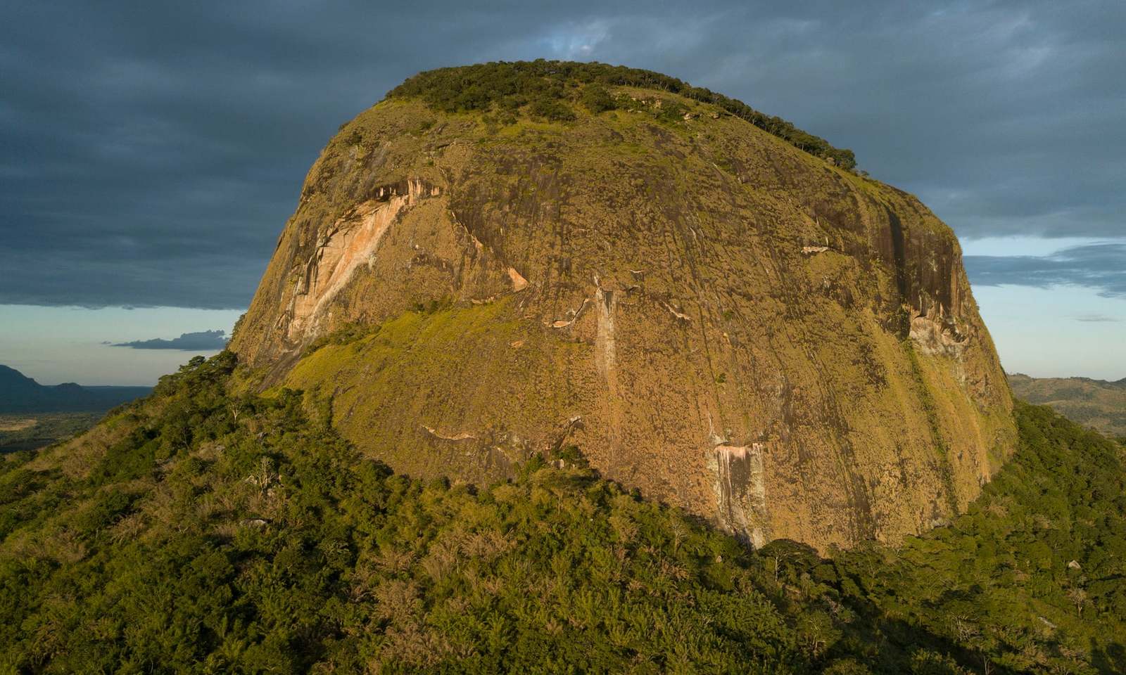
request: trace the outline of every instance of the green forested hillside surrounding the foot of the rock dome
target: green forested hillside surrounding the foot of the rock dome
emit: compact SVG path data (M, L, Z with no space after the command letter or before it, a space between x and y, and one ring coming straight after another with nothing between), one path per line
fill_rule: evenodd
M950 525L820 558L575 448L480 488L395 475L234 366L0 461L6 672L1126 672L1123 448L1047 408Z

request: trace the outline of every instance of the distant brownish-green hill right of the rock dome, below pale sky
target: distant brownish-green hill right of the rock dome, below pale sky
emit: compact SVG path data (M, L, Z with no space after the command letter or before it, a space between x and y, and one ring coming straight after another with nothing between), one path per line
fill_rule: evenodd
M1072 422L1107 435L1126 436L1126 378L1111 382L1015 372L1009 376L1009 385L1018 397L1052 406Z

